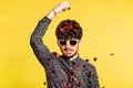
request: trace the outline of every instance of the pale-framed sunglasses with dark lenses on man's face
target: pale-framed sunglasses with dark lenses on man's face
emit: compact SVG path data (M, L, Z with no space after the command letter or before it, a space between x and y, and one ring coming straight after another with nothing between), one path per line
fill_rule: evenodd
M59 40L58 41L60 45L64 46L66 45L68 43L71 45L71 46L74 46L78 44L79 40L70 40L70 41L66 41L66 40Z

